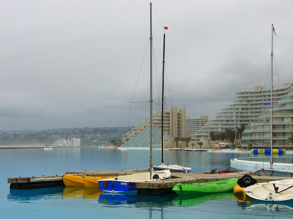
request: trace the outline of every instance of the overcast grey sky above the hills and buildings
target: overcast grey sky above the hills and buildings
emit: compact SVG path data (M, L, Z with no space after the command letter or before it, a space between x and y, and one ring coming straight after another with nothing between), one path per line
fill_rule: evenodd
M281 83L293 82L293 1L152 6L156 66L168 26L171 99L187 116L212 119L239 88L268 87L272 23ZM128 126L142 63L133 101L149 100L148 42L149 1L1 0L0 130ZM148 103L132 104L130 125L148 115Z

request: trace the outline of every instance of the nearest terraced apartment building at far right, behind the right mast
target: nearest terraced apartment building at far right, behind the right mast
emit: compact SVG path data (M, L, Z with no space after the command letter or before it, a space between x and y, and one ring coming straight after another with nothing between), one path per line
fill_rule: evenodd
M291 93L291 95L282 96L279 102L273 104L273 107L278 107L273 108L273 147L293 146L292 143L289 144L288 142L288 138L293 132L293 86ZM242 133L242 142L244 145L255 142L256 144L253 147L270 147L270 116L270 109L264 110L261 117L254 119L253 123L245 126L245 130ZM282 145L284 142L288 144Z

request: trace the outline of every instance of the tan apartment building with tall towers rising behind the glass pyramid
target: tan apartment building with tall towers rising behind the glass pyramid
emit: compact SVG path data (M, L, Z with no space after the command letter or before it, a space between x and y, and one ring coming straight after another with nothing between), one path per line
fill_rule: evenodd
M153 113L152 115L153 124L156 126L162 127L162 112ZM171 107L170 111L163 111L163 130L164 132L170 134L173 137L185 137L185 126L186 126L186 112L185 107ZM150 126L150 118L148 117L140 123L139 125L132 128L131 131L123 135L123 141L130 139L133 136L137 135L139 132L144 130L147 126Z

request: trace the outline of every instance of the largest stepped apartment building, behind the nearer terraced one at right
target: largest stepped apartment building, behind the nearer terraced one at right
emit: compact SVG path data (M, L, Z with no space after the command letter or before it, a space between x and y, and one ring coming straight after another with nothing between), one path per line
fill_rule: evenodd
M281 100L282 96L290 95L293 83L285 83L282 88L273 88L273 102ZM261 109L270 104L271 91L264 86L254 86L253 89L244 89L235 92L235 100L218 112L215 119L199 128L195 140L208 138L208 133L222 132L225 129L235 129L242 123L250 124L253 119L261 117Z

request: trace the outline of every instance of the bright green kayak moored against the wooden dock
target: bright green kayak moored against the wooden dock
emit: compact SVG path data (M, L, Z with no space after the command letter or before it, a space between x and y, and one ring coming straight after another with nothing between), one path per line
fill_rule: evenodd
M237 180L238 178L232 178L208 183L178 183L172 190L178 195L227 192L234 189Z

